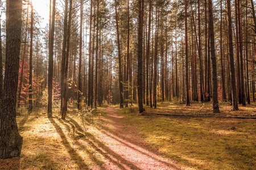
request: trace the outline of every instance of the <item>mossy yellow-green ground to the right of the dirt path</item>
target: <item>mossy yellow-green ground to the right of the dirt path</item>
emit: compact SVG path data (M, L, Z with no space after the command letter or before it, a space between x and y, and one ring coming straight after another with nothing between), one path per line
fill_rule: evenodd
M228 103L221 104L224 115L255 115L255 104L230 112ZM138 116L138 108L121 111L126 117L123 124L139 130L147 143L177 164L191 169L256 169L256 121L255 119ZM135 112L131 112L131 110ZM146 107L151 113L213 114L212 104L163 103L158 109Z

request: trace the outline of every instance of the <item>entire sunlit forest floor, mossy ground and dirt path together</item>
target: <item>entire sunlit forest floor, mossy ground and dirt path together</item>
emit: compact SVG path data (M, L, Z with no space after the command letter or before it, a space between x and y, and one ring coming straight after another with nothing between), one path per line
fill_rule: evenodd
M212 114L211 107L162 103L146 111ZM138 116L137 107L114 105L82 116L69 107L61 120L57 109L52 118L43 109L17 117L22 154L0 160L0 169L256 169L253 119ZM221 114L256 113L255 104L230 109L222 104Z

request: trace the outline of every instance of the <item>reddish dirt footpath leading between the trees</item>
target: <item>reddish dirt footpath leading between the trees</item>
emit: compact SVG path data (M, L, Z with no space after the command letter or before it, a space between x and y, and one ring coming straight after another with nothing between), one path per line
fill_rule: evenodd
M155 148L146 145L137 130L113 107L106 111L108 130L101 129L99 140L114 153L118 162L118 165L109 162L106 169L180 169L174 162L159 156Z

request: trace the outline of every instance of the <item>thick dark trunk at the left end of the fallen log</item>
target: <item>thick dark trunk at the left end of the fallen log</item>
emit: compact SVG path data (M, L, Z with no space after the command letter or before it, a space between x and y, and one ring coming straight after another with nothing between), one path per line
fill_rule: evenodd
M143 11L144 0L139 3L139 28L138 28L138 104L139 113L143 112Z

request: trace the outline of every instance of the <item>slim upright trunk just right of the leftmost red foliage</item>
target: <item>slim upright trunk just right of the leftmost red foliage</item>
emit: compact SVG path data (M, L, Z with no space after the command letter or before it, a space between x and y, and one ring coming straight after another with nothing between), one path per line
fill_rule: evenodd
M33 56L33 23L34 23L34 19L33 19L33 6L31 4L31 24L30 24L30 87L29 87L29 107L28 107L28 111L32 111L32 107L33 107L33 100L32 100L32 56Z

